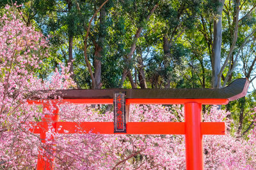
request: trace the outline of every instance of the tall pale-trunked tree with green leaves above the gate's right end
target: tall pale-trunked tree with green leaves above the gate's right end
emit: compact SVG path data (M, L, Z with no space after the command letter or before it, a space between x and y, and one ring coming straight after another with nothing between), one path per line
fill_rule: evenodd
M248 19L248 16L252 16L256 6L253 2L239 0L215 1L214 5L216 10L213 13L213 29L211 18L207 19L209 13L206 12L208 14L202 13L201 16L201 24L204 28L201 32L204 34L211 55L212 87L221 88L232 80L241 50L253 41L255 28L250 23L252 17L249 19L250 22L243 21ZM240 15L243 17L239 17ZM221 63L221 60L224 62Z

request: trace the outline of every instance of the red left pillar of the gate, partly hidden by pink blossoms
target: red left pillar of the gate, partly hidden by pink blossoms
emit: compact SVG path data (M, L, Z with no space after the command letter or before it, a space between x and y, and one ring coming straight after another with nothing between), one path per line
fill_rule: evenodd
M49 130L48 129L48 124L49 122L51 122L52 126L54 127L55 131L56 131L56 122L58 122L59 120L59 109L56 106L56 104L53 104L54 110L52 111L52 114L46 114L44 118L42 118L42 127L41 127L41 133L40 133L40 139L42 144L44 145L45 143L45 138L46 138L46 132ZM51 106L49 104L44 104L44 110L51 110ZM53 138L51 138L53 140ZM45 145L45 147L47 147ZM49 148L50 150L52 150L52 148ZM45 154L42 154L42 148L40 148L39 150L39 154L38 154L38 159L37 159L37 170L41 170L41 169L53 169L53 162L54 159L49 159L49 157L47 157ZM54 152L54 150L52 150L52 152Z

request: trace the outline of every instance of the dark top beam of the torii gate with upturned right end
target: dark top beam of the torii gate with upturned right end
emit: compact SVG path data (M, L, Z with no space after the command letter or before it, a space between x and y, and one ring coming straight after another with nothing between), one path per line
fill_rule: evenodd
M113 99L113 92L126 92L127 99L228 99L234 101L246 95L249 81L234 80L221 89L99 89L57 90L63 99Z

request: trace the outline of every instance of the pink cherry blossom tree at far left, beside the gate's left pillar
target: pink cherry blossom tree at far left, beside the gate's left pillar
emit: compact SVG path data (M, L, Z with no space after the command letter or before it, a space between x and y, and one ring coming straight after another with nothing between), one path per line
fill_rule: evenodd
M0 17L0 167L33 169L36 167L40 138L28 131L26 122L39 121L42 107L28 106L26 99L49 94L44 89L67 89L67 68L52 73L49 81L36 76L42 59L47 57L47 39L28 27L19 17L19 6L6 6Z

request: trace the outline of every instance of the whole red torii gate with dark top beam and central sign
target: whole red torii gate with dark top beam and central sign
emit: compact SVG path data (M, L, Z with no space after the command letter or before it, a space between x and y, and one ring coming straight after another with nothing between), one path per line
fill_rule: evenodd
M91 132L100 134L184 134L186 139L186 168L200 170L204 169L202 136L225 134L224 122L202 122L202 104L228 104L229 101L245 96L248 86L249 81L241 78L222 89L57 90L57 93L63 98L62 104L67 102L74 104L114 103L114 112L123 110L121 111L122 114L125 113L125 108L129 112L129 104L184 104L185 122L126 122L127 118L124 114L115 113L114 123L78 122L77 125L77 122L58 122L58 108L55 106L54 115L45 115L42 122L34 123L34 128L30 131L40 134L42 143L45 143L45 132L48 131L47 119L51 118L52 126L59 134L77 133L77 127L79 127L78 133L88 133L92 130ZM122 100L119 100L120 97L123 97ZM53 99L49 100L54 103ZM42 104L42 101L29 100L28 103ZM44 103L44 107L49 110L47 103ZM120 117L120 119L117 120L116 117ZM58 131L59 127L62 127L60 131ZM69 132L66 133L63 129ZM51 161L45 160L44 157L44 155L38 155L37 169L53 169Z

